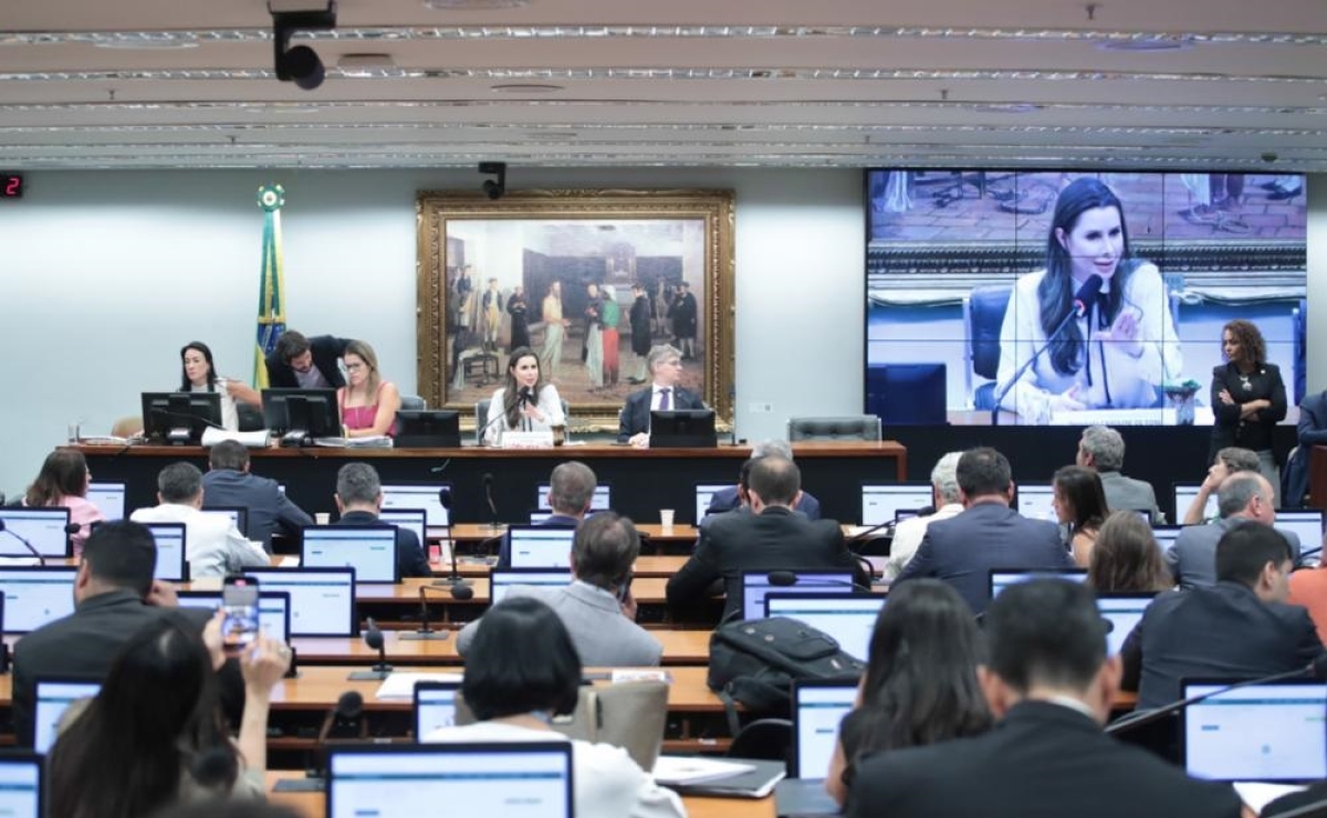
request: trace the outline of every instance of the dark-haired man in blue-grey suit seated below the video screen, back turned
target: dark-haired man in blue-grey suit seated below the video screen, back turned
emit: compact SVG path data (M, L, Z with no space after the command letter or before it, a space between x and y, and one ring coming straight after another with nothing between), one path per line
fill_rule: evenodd
M990 603L991 569L1074 567L1058 525L1010 508L1014 480L1005 455L969 449L955 473L963 512L926 526L917 554L894 582L943 579L979 614Z

